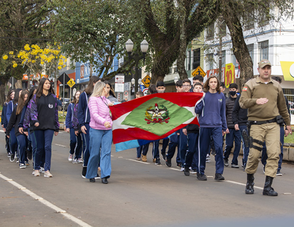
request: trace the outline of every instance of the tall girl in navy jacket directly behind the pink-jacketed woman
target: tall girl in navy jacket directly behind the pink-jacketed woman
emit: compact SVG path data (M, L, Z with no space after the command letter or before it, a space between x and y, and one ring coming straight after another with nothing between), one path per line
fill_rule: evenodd
M78 104L78 124L81 128L82 139L83 139L83 171L82 171L82 177L86 178L87 173L87 165L88 160L90 157L89 153L89 131L90 131L90 112L88 109L88 100L93 92L94 85L100 81L99 77L92 76L89 80L88 86L83 91L83 93L80 95L79 104ZM97 174L98 179L98 174Z

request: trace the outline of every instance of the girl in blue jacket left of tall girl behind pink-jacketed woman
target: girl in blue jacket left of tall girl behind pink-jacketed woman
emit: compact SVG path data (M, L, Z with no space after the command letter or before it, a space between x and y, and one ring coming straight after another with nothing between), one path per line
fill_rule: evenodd
M69 104L69 107L67 108L65 126L64 126L64 131L70 133L70 143L69 143L70 150L69 150L68 160L69 162L72 161L73 164L83 163L81 159L82 137L81 137L81 134L75 135L75 130L73 126L74 111L76 109L76 106L78 105L78 100L81 95L81 92L82 92L81 90L76 91L73 101ZM75 156L74 156L74 153L75 153Z

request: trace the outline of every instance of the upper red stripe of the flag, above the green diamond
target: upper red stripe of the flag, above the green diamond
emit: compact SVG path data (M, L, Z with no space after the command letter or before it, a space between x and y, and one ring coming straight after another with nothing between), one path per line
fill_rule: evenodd
M185 107L189 106L192 107L195 105L196 101L203 96L203 93L196 93L196 92L188 92L188 93L175 93L175 92L167 92L167 93L156 93L151 95L146 95L138 99L133 99L127 102L123 102L121 104L117 104L114 106L110 106L112 120L116 120L121 115L126 114L133 109L140 106L142 103L152 99L154 97L159 97L170 101L178 106Z

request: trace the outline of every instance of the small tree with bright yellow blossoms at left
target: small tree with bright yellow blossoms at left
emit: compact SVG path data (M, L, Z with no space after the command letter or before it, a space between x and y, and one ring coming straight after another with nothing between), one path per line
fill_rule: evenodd
M11 60L14 68L26 65L30 70L28 75L33 74L36 80L39 80L42 74L51 76L52 73L66 66L66 57L61 54L60 46L56 43L43 49L36 44L31 46L26 44L24 50L10 51L7 55L3 55L3 59Z

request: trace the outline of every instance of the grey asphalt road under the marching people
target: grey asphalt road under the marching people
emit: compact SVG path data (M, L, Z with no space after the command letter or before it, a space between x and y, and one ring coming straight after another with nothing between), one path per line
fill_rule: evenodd
M279 195L270 197L262 195L261 165L255 194L246 195L242 168L225 167L225 181L214 180L213 156L203 182L180 172L175 158L170 168L154 165L151 147L144 163L135 161L136 149L115 153L113 145L111 177L102 184L67 160L69 133L54 137L52 178L10 162L3 132L0 144L0 226L293 226L294 166L287 163L273 181Z

